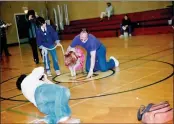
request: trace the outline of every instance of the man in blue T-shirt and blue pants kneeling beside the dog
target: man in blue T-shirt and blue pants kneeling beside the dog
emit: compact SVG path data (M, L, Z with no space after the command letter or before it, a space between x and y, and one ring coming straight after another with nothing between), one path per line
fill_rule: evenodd
M86 71L88 72L87 78L92 77L95 71L108 71L119 65L119 62L114 57L110 57L110 60L106 60L106 48L105 46L92 34L83 29L79 35L77 35L71 45L68 47L68 51L74 51L76 46L81 46L87 51L86 57Z

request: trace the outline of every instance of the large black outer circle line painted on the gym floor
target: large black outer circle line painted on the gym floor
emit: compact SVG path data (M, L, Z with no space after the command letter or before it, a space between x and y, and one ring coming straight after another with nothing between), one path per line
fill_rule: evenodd
M146 60L146 59L141 59L141 60ZM168 63L168 62L163 62L163 61L158 61L158 60L146 60L146 61L155 61L155 62L160 62L160 63L164 63L164 64L168 64L170 65L172 68L174 68L174 65L171 64L171 63ZM144 64L144 63L143 63ZM70 100L81 100L81 99L90 99L90 98L97 98L97 97L103 97L103 96L109 96L109 95L115 95L115 94L121 94L121 93L126 93L126 92L130 92L130 91L135 91L135 90L138 90L138 89L143 89L143 88L146 88L146 87L149 87L149 86L152 86L152 85L155 85L155 84L158 84L164 80L167 80L168 78L172 77L174 75L174 71L168 75L167 77L159 80L159 81L156 81L154 83L151 83L151 84L148 84L148 85L145 85L145 86L141 86L141 87L138 87L138 88L133 88L133 89L130 89L130 90L125 90L125 91L120 91L120 92L115 92L115 93L108 93L108 94L103 94L103 95L94 95L94 96L88 96L88 97L79 97L79 98L72 98ZM22 94L19 94L17 96L20 96ZM3 97L0 97L2 100L10 100L10 101L19 101L19 102L28 102L28 100L15 100L15 99L11 99L11 98L14 98L16 96L13 96L13 97L10 97L10 98L3 98ZM2 101L1 100L1 101Z

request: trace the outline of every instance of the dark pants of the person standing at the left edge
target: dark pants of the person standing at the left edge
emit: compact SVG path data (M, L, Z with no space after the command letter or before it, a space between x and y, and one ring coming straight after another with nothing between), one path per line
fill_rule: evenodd
M7 46L7 37L5 35L0 36L1 38L1 53L0 55L2 56L3 51L5 52L5 55L8 56L9 55L9 51L8 51L8 46Z

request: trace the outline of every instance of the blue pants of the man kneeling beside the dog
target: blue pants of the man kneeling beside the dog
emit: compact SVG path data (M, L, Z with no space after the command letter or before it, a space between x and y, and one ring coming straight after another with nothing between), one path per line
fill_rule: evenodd
M86 71L89 72L90 70L90 63L91 63L91 54L87 52L86 57ZM95 59L95 66L94 66L94 72L95 71L108 71L109 69L112 69L115 67L114 60L110 59L108 62L106 60L106 48L104 45L101 45L96 50L96 59Z

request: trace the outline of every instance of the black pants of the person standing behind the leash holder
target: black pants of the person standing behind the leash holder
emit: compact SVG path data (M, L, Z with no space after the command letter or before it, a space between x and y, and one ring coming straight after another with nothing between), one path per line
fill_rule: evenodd
M37 51L37 43L36 38L30 38L29 43L33 52L33 59L36 63L39 63L38 51ZM41 51L40 51L41 52Z

